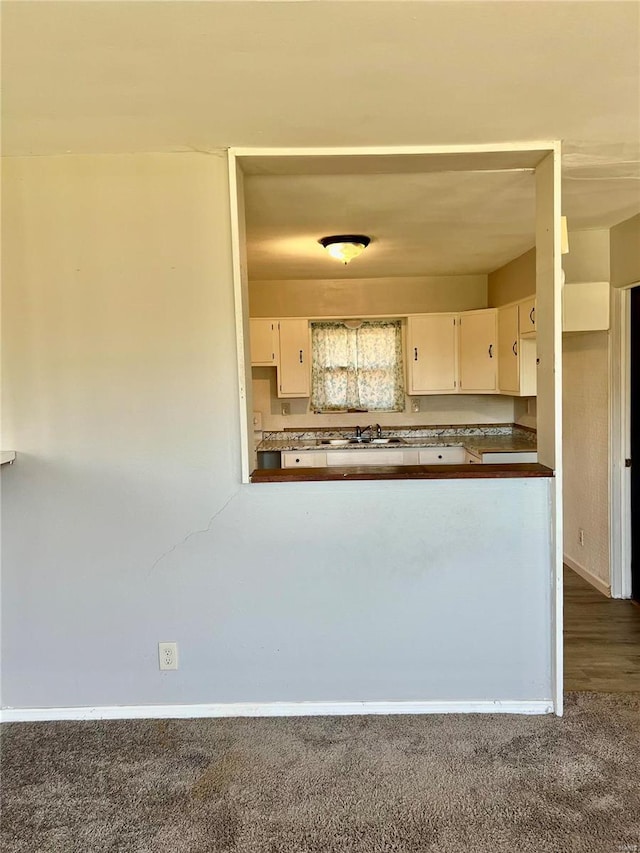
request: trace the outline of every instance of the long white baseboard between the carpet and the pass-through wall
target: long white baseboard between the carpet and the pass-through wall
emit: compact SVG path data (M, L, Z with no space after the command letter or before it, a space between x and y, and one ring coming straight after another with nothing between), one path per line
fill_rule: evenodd
M49 720L315 717L353 714L552 714L551 699L455 702L228 702L211 705L102 705L95 708L5 708L0 722Z

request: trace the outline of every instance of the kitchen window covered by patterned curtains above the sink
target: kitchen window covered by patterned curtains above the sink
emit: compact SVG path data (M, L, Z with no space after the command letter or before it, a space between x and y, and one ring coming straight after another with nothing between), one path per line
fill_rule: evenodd
M311 324L311 408L404 411L399 320Z

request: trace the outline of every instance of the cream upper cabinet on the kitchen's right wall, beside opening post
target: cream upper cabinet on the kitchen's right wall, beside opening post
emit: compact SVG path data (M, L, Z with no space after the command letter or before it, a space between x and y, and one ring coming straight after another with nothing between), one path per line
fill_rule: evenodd
M525 333L525 337L522 337L520 334L520 316L522 315L525 319L529 317L531 307L531 301L527 300L498 308L500 394L514 397L535 397L536 395L536 339L534 335L527 337ZM525 328L527 328L526 325Z

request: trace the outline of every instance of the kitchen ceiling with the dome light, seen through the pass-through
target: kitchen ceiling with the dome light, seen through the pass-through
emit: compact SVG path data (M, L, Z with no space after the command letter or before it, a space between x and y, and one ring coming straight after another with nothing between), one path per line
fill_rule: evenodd
M369 278L490 272L534 243L533 172L248 177L250 277ZM366 234L348 266L319 245Z

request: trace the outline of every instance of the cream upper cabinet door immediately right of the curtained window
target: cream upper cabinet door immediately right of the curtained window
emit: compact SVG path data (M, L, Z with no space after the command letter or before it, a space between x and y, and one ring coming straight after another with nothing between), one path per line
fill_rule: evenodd
M457 314L417 314L407 321L409 394L457 389Z

